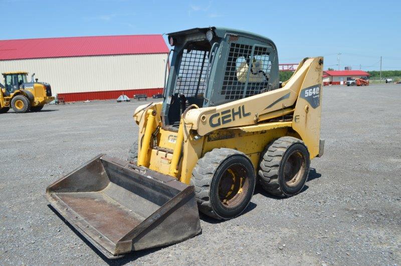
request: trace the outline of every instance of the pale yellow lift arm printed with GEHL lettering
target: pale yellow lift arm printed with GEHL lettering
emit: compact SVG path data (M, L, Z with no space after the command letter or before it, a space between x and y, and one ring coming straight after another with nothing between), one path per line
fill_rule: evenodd
M184 117L185 124L199 136L204 136L216 129L259 123L270 119L274 112L288 113L295 108L299 98L304 98L310 106L316 106L316 102L320 105L322 70L322 57L305 59L283 88L217 107L189 110Z

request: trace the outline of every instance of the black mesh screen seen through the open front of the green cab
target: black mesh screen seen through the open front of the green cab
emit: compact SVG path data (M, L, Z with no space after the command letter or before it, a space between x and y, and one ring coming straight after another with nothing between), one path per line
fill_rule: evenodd
M206 51L184 49L174 93L183 93L186 97L203 96L208 56L209 52Z

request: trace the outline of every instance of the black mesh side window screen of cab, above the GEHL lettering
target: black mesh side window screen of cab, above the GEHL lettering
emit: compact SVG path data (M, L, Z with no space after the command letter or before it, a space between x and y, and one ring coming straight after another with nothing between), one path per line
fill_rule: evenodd
M237 100L268 90L270 70L271 61L266 47L232 43L222 95L226 100Z

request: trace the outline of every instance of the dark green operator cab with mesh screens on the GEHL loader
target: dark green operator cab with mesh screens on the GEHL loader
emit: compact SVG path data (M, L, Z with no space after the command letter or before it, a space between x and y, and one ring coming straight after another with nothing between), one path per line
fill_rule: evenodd
M163 123L177 129L191 104L218 106L279 88L278 57L268 38L225 28L168 34L174 47Z

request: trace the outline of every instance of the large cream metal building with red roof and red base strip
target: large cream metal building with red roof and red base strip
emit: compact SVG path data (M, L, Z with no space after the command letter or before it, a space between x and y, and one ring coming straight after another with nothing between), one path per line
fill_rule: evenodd
M162 91L167 53L161 35L6 40L0 72L35 73L66 101L151 96Z

